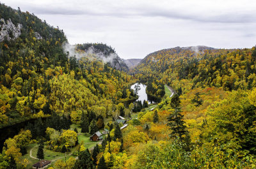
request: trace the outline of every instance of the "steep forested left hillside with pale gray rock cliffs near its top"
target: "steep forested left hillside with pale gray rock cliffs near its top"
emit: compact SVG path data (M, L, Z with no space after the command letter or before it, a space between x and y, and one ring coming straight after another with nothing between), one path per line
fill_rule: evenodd
M115 54L111 47L77 45L77 50L99 50L96 54L101 52L102 57L113 61L110 64L92 60L89 54L77 58L63 50L67 38L60 29L28 11L13 10L4 4L0 8L0 126L46 117L52 112L68 115L131 99L127 83L131 76L111 67L120 61L118 56L116 61L109 58L109 54ZM106 108L102 114L108 114Z

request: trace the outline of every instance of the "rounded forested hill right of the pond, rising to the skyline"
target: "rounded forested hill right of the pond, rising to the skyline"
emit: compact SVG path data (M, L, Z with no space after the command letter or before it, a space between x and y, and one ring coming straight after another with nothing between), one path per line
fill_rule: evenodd
M255 48L214 49L209 47L176 47L147 55L136 67L141 79L157 77L160 84L221 87L225 91L255 87ZM155 87L156 88L156 87Z

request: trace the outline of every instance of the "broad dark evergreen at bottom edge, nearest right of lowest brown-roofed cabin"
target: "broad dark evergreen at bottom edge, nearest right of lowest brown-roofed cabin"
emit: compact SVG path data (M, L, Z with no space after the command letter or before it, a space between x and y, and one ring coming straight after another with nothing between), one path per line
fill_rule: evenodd
M94 169L92 157L88 149L86 151L79 152L78 159L73 167L73 169Z

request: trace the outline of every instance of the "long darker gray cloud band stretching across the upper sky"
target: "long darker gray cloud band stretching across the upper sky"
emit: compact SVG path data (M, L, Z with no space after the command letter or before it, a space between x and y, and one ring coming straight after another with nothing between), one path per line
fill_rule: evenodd
M183 20L194 20L197 22L216 22L216 23L248 23L256 22L256 13L237 13L236 11L228 11L223 14L205 15L205 13L189 13L182 10L166 10L154 6L135 6L132 8L124 8L124 10L100 11L99 9L90 10L72 9L68 6L31 6L28 5L29 11L36 11L42 15L89 15L101 17L164 17Z

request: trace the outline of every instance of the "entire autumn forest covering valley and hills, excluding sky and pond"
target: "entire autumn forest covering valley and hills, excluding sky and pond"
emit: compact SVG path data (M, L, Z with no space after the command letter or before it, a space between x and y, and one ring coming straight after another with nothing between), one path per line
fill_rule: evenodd
M256 168L255 47L169 48L129 70L106 44L0 9L0 129L25 124L1 138L0 169Z

